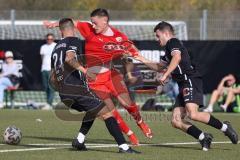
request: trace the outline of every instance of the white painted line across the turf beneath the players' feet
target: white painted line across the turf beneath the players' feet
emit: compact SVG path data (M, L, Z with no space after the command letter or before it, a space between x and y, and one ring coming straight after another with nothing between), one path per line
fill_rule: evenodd
M219 142L212 142L212 144L230 144L230 141L219 141ZM239 142L238 142L239 143ZM193 145L199 144L198 142L180 142L180 143L158 143L158 144L140 144L139 146L160 146L160 145ZM5 144L0 144L5 145ZM43 143L43 144L28 144L29 146L70 146L69 143ZM87 148L109 148L109 147L117 147L116 144L101 144L101 143L89 143L86 144ZM68 147L45 147L45 148L28 148L28 149L5 149L0 150L0 153L6 152L24 152L24 151L41 151L41 150L55 150L55 149L63 149Z

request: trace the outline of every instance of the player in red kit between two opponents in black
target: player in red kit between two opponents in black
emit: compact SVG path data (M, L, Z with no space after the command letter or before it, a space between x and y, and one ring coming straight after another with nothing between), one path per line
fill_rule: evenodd
M108 107L114 108L111 96L115 96L121 105L133 116L144 135L152 138L151 129L143 121L139 108L130 99L123 76L113 68L111 62L120 59L125 53L125 41L128 37L109 25L109 15L105 9L96 9L91 13L91 22L76 21L75 26L85 38L85 58L87 71L96 74L88 77L89 87L104 100ZM44 22L48 28L57 27L57 23ZM138 52L129 51L131 56ZM88 73L86 73L88 75ZM128 128L116 109L113 114L122 131L130 136L133 132ZM129 137L131 140L131 137Z

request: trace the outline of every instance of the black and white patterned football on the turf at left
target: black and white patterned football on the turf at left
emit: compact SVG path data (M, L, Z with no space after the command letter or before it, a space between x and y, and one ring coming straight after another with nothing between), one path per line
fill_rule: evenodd
M3 133L3 141L6 144L17 145L22 139L22 132L15 126L9 126Z

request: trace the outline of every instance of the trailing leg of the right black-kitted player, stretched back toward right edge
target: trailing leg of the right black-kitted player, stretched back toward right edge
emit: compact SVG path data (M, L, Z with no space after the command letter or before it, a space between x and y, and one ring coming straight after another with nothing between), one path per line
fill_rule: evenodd
M198 105L195 103L187 103L186 111L189 115L189 118L191 118L192 120L205 123L209 126L221 130L226 136L229 137L232 143L237 144L238 135L229 122L221 122L209 113L199 112Z

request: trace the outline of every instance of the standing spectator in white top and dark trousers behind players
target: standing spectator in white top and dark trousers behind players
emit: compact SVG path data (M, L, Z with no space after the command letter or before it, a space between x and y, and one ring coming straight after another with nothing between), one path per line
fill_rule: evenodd
M51 54L56 46L52 33L46 35L46 42L47 43L42 45L40 49L40 55L42 56L42 82L47 96L47 104L43 109L50 109L54 98L54 90L48 84L48 79L51 71Z

